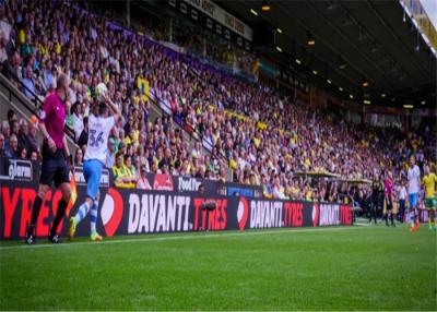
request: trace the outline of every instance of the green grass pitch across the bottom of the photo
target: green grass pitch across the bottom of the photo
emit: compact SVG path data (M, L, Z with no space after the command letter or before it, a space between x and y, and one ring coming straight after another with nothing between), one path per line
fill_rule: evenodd
M1 242L0 264L1 310L437 310L425 226Z

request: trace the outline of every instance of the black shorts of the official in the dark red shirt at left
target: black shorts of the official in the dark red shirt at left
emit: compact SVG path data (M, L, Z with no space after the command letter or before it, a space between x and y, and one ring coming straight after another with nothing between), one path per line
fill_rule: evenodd
M51 187L51 183L55 182L56 188L59 188L62 183L70 183L70 169L62 153L61 148L52 153L47 143L43 144L43 165L39 183Z

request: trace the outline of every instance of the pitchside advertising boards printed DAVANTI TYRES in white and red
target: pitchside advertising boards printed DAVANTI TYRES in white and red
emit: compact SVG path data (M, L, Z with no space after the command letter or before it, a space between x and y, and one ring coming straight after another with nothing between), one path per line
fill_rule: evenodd
M60 225L68 235L68 217L85 199L82 171L76 170L78 197ZM0 239L25 235L38 187L39 164L0 158ZM352 207L338 203L267 200L260 188L196 178L150 175L154 190L111 188L110 173L103 175L97 230L107 236L198 230L245 230L282 227L351 226ZM172 182L170 182L172 181ZM205 185L204 194L197 191ZM169 185L173 185L172 188ZM151 183L152 185L152 183ZM161 185L161 188L160 188ZM167 188L167 189L165 189ZM50 191L36 225L37 237L48 233L61 194ZM204 204L213 203L208 212ZM82 221L76 236L88 236L90 223Z

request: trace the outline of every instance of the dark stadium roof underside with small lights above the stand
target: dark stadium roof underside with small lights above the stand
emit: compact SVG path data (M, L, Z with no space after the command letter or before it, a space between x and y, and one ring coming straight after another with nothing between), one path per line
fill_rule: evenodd
M261 10L265 1L216 2L253 27L268 22L282 52L258 50L343 98L436 105L436 57L398 1L268 1L270 11Z

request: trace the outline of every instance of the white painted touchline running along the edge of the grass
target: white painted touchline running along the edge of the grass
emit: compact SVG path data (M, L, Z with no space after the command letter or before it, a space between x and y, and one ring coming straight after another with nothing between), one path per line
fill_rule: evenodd
M359 227L361 229L364 227ZM68 243L45 243L45 244L20 244L20 245L7 245L0 247L0 251L4 250L27 250L27 249L36 249L36 248L62 248L62 247L76 247L76 245L103 245L109 243L130 243L130 242L154 242L154 241L174 241L174 240L190 240L190 239L210 239L210 238L227 238L227 237L240 237L240 236L258 236L258 235L274 235L274 233L290 233L290 232L317 232L317 231L342 231L342 230L351 230L358 229L357 227L335 227L335 228L307 228L307 229L277 229L277 230L262 230L257 229L257 231L239 231L239 232L231 232L231 233L213 233L209 232L205 235L181 235L181 236L168 236L168 237L157 237L157 238L135 238L135 239L109 239L103 240L99 242L94 241L80 241L80 242L68 242ZM165 235L165 233L163 233Z

